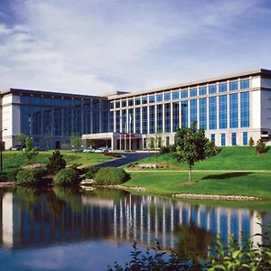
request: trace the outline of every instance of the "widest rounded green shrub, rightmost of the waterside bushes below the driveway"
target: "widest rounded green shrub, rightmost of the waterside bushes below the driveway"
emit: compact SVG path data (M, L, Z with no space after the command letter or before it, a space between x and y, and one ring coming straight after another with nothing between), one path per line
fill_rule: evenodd
M94 181L102 185L121 184L130 179L130 175L121 168L103 167L94 176Z

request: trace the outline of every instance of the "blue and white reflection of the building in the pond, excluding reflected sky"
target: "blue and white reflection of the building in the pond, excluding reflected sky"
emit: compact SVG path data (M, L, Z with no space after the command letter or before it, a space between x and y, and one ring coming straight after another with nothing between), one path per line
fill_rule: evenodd
M128 243L136 240L143 247L154 246L159 239L162 248L170 249L182 243L192 245L189 237L195 242L208 240L208 247L217 233L225 241L230 234L241 241L241 232L261 242L254 236L261 233L258 223L271 221L270 212L206 207L122 191L33 192L17 188L2 192L1 202L1 242L5 248L95 238Z

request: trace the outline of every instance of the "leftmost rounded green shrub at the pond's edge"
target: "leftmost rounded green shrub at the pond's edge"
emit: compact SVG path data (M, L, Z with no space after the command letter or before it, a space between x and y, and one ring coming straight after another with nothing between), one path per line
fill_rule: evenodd
M37 186L45 184L42 179L45 172L37 169L23 169L16 176L16 181L18 185L22 186Z

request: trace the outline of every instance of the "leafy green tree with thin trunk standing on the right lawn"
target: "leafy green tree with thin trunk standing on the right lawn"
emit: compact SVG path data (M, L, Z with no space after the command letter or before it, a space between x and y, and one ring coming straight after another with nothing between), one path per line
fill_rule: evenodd
M177 130L175 145L174 158L178 163L184 162L189 165L189 182L192 182L192 166L197 161L205 160L219 153L219 148L205 137L204 129L197 129L196 122L191 127Z

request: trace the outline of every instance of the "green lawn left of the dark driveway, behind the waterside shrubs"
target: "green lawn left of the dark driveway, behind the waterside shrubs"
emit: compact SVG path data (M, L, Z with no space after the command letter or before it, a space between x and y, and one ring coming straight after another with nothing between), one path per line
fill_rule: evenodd
M33 158L31 164L47 164L48 157L50 157L52 151L39 152L39 154ZM88 166L92 164L99 164L111 160L112 157L104 154L87 154L87 153L72 153L61 152L67 164L82 164ZM21 151L5 151L3 152L3 167L4 171L12 171L14 168L18 168L24 164L28 164L27 160L23 157Z

